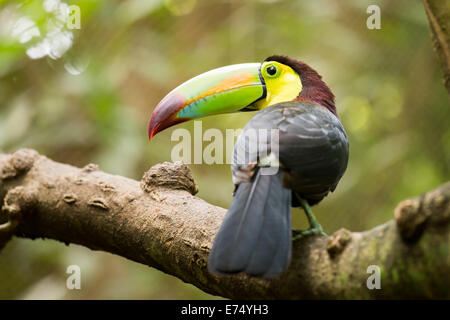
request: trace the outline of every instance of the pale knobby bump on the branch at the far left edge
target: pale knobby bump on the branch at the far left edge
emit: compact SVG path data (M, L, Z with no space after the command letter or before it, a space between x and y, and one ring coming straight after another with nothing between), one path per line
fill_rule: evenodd
M10 155L1 166L0 180L6 180L20 176L28 172L38 158L39 154L31 149L20 149Z

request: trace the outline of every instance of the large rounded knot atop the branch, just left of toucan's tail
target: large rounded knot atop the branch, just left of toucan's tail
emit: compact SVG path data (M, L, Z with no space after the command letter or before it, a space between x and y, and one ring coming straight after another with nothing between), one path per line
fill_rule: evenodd
M154 165L141 179L141 189L153 192L157 188L186 190L192 195L198 192L191 170L180 161Z

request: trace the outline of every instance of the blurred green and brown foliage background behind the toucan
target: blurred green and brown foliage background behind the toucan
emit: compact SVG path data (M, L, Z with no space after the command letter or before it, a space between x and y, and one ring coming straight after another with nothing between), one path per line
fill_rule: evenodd
M0 0L4 152L29 147L60 162L94 162L140 179L169 161L176 144L174 128L151 143L147 137L150 114L166 93L212 68L285 54L324 77L349 135L347 173L315 208L327 233L384 223L399 201L449 180L449 100L419 0L66 1L80 7L81 29L60 27L73 38L56 48L58 57L32 59L30 48L51 37L54 12L45 8L55 3ZM381 8L381 30L366 27L370 4ZM23 17L35 25L18 27ZM34 27L40 36L25 41ZM251 116L206 118L203 130L240 128ZM192 131L193 122L178 127ZM190 167L198 196L227 207L229 166ZM301 211L293 217L294 227L306 227ZM81 290L65 287L71 264L81 267ZM3 299L211 297L155 269L53 240L15 238L0 252Z

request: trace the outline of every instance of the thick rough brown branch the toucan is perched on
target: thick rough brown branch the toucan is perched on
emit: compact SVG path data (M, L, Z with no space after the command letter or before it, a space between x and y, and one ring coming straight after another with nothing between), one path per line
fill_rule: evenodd
M295 241L290 268L270 281L207 271L226 210L196 191L180 163L157 165L138 182L33 150L0 154L0 247L12 236L76 243L228 298L450 298L450 183L400 203L394 220L372 230ZM381 290L367 288L370 265L381 269Z

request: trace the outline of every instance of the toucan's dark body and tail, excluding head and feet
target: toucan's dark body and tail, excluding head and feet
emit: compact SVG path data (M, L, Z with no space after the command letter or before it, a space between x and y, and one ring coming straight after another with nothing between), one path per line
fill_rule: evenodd
M279 150L271 150L270 139L245 134L253 129L279 129ZM257 152L249 152L248 144L257 144ZM264 175L258 162L271 152L279 154L280 169ZM347 161L344 128L323 106L293 101L258 112L234 149L236 192L209 257L210 270L264 277L284 271L291 252L291 205L298 206L299 197L313 205L334 191Z

